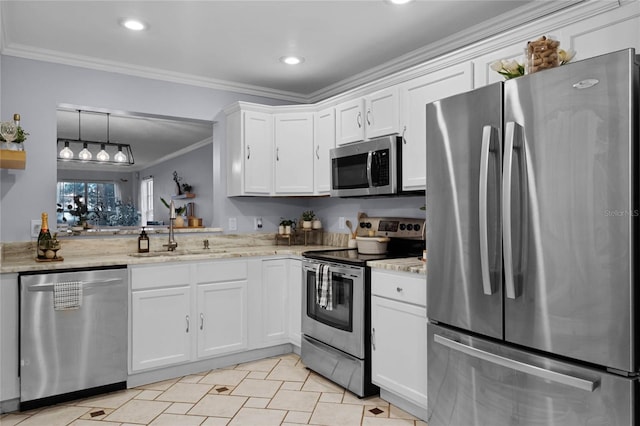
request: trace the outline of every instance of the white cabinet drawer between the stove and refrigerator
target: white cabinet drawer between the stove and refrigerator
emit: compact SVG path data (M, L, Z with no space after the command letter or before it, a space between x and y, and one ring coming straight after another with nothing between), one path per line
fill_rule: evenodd
M371 271L371 293L414 305L427 305L427 279L424 275Z

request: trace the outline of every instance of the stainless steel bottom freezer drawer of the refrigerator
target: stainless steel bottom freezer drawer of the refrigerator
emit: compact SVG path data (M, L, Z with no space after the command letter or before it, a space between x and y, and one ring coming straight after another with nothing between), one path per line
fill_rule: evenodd
M429 426L638 424L638 378L427 330Z

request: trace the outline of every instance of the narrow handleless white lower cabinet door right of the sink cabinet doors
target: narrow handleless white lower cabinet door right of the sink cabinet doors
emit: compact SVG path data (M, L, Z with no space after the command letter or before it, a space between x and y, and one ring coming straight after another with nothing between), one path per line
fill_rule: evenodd
M289 341L287 262L285 259L262 262L262 337L264 343Z

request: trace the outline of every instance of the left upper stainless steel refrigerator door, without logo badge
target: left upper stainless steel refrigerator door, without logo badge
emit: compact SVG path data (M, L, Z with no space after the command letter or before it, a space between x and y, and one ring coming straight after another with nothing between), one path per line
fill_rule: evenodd
M426 114L427 315L502 338L502 83Z

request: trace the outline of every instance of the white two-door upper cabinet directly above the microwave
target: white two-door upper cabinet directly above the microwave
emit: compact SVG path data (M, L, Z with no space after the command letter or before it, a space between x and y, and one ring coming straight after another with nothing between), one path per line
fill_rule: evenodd
M389 87L336 107L336 145L398 133L400 100Z

